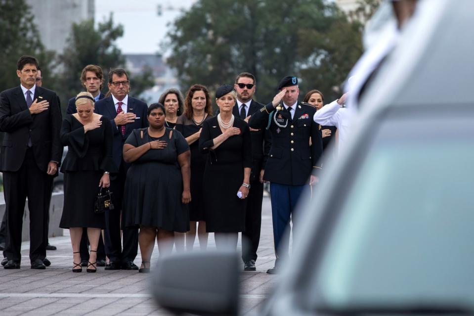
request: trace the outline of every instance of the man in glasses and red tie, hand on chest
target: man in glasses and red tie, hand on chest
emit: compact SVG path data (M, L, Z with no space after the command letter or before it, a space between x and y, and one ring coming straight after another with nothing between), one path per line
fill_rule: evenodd
M114 210L105 213L105 252L109 263L105 270L138 270L133 263L138 250L138 228L123 229L123 249L120 238L120 215L128 165L122 157L124 142L134 129L148 127L145 102L129 96L129 75L124 69L109 72L111 95L95 103L95 111L108 117L114 131L112 155L119 172L110 177ZM126 212L126 210L122 210Z

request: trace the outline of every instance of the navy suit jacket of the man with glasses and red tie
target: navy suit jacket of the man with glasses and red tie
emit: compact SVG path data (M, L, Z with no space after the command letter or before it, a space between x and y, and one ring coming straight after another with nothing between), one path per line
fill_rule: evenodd
M115 117L117 116L117 111L115 110L115 104L114 100L112 99L112 95L95 102L94 112L109 118L112 125L112 130L114 132L112 156L114 158L115 164L117 165L117 169L120 169L120 165L122 163L122 150L127 137L129 137L133 130L148 127L147 111L148 106L145 102L129 95L127 113L134 113L136 117L139 117L139 119L136 119L133 123L127 124L125 126L125 136L122 136L122 133L117 128L117 125L114 121Z

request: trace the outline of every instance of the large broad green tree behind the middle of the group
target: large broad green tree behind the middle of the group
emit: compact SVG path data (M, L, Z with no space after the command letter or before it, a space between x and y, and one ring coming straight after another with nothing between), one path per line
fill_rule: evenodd
M249 71L261 102L288 75L300 77L302 93L334 97L361 53L358 22L323 0L198 0L173 22L163 48L183 90L197 82L214 90Z

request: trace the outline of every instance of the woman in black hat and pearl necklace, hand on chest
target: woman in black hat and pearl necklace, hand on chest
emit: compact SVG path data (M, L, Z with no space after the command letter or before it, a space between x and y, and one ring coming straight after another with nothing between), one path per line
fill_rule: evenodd
M223 85L215 91L220 113L204 122L199 149L209 153L203 184L207 231L214 232L217 248L235 249L239 231L245 230L252 141L247 122L232 114L233 89Z

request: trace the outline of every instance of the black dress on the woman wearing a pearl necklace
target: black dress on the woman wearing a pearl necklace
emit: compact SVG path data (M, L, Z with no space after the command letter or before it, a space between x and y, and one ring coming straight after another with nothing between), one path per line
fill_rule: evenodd
M213 139L222 134L217 118L207 120L199 138L199 148L208 153L204 171L204 206L208 232L238 232L245 230L246 199L237 197L244 180L244 168L252 168L252 140L247 123L235 117L234 135L217 148Z

